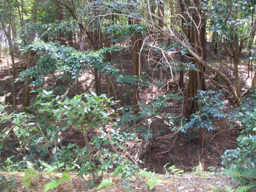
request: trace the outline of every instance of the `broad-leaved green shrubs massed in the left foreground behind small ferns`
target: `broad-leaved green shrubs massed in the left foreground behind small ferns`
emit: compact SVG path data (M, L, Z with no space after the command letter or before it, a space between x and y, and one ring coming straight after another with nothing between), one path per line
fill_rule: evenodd
M18 157L23 157L20 162L27 167L27 170L24 167L26 173L36 170L38 174L32 176L40 177L42 171L78 170L80 177L91 174L93 185L102 179L105 171L114 167L121 166L116 172L121 172L123 178L138 168L136 163L119 154L125 151L125 142L132 139L134 133L118 129L114 117L120 109L112 108L116 102L104 94L97 96L93 92L69 99L65 95L56 96L53 91L43 90L40 97L42 99L35 104L37 121L35 116L24 112L5 114L4 109L8 106L0 106L0 123L11 123L1 131L0 153L11 150ZM113 126L109 130L110 125ZM72 131L82 135L84 147L65 141L65 135ZM14 142L7 142L10 137L15 138ZM47 163L42 161L46 157ZM7 168L13 170L18 166ZM27 176L26 181L29 181L26 183L29 186L31 177Z

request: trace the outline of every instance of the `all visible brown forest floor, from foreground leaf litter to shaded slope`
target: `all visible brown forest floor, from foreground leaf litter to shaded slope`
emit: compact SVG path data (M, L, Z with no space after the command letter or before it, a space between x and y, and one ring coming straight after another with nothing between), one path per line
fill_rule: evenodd
M225 55L219 55L220 58L226 58ZM208 56L207 61L210 62L215 67L219 67L219 62L216 61L215 58ZM10 58L8 58L10 59ZM7 63L5 59L2 59L3 63L1 63L0 68L0 96L10 93L10 78L7 70ZM113 54L112 56L113 63L119 66L121 73L123 74L131 74L132 65L131 65L131 52L125 52L122 54ZM227 65L230 65L230 60L224 60ZM17 72L20 72L25 69L24 58L16 57L15 59ZM247 78L247 63L245 59L242 59L241 64L239 65L239 75L241 79L241 91L244 93L250 86L252 78ZM11 61L9 60L9 65L11 68ZM255 64L254 64L255 65ZM156 67L157 70L152 73L152 64L144 63L143 65L143 73L148 75L148 77L153 77L152 79L161 79L164 84L162 87L155 86L156 82L154 82L151 78L146 78L148 81L152 81L154 86L142 88L140 92L140 101L146 103L151 96L155 97L156 95L164 95L166 93L178 93L186 96L186 90L188 86L188 75L185 75L184 79L184 87L181 90L177 89L176 82L170 82L171 75L168 68L164 67ZM222 66L224 69L224 74L229 76L230 71L227 67ZM9 70L10 75L12 75L12 69ZM215 74L207 71L207 74L212 78L215 78ZM250 74L251 75L251 74ZM231 74L231 81L234 82L234 78ZM178 75L175 76L175 80L177 81ZM219 80L221 83L221 80ZM52 81L50 76L45 78L45 84L39 88L49 88L52 86ZM224 84L224 83L223 83ZM61 88L57 90L58 94L67 94L68 97L74 97L76 94L82 93L90 93L90 91L94 90L94 76L92 72L84 72L80 77L78 83L71 83L65 80L57 80L55 87L63 86L67 87L67 89L62 90ZM116 92L118 99L122 101L121 105L130 104L131 101L131 89L127 89L123 86L116 85ZM17 107L20 111L22 111L23 99L24 99L24 83L18 82L16 83L17 87ZM207 90L219 90L213 84L211 84L208 80L206 80ZM34 90L33 88L31 90ZM130 92L129 92L130 91ZM106 80L102 77L102 93L107 93ZM32 100L35 98L36 93L31 94ZM227 108L226 112L234 109L235 105L231 98L225 99L225 105ZM6 99L7 103L12 103L11 97ZM167 113L173 114L181 114L185 100L181 101L170 101L171 104L167 108L163 108L159 114L166 115ZM33 111L31 111L33 113ZM198 145L198 133L196 131L188 130L186 134L174 134L173 131L170 130L165 123L165 118L155 118L153 123L151 124L151 131L153 134L153 138L151 140L146 139L143 143L128 143L127 150L130 155L133 157L141 159L144 162L144 167L147 167L148 170L155 171L158 174L163 174L163 166L166 163L169 165L175 164L180 169L184 170L184 172L192 171L193 167L199 165L201 162L203 165L203 170L207 170L207 167L221 167L221 158L220 155L223 155L224 151L227 149L234 149L237 147L236 138L240 134L239 125L234 127L229 127L225 123L229 122L228 119L224 120L216 120L214 121L214 130L205 131L203 133L204 144L203 146ZM130 131L134 131L131 129ZM94 136L95 132L89 133L89 137L91 134L91 138ZM84 142L82 136L79 135L75 131L69 131L68 134L63 136L64 140L74 141L74 143L78 144L80 147L84 146ZM15 154L8 154L9 157ZM7 158L3 157L0 159L0 164L4 162ZM7 173L1 173L7 176ZM22 177L23 173L8 173L9 181L16 182L16 187L13 189L9 189L10 191L26 191L25 188L22 188L22 184L19 179ZM34 187L30 189L30 191L40 191L43 188L42 182L49 180L49 178L55 177L56 175L48 175L41 182L34 182ZM223 175L215 175L210 173L204 174L182 174L175 176L163 176L161 177L161 184L155 188L155 191L212 191L213 187L223 188L225 185L235 185L234 180L229 178L228 176ZM119 178L113 177L113 181L118 185L113 187L105 188L105 191L125 191L123 189L122 181ZM130 185L130 189L132 191L147 191L146 187L140 186L138 181L131 179L132 184ZM184 188L183 188L184 186ZM179 190L180 189L180 190ZM78 177L75 177L75 174L72 174L72 182L65 182L61 185L57 191L88 191L88 184L86 184L85 180L82 180ZM92 191L94 189L91 189ZM55 190L56 191L56 190Z

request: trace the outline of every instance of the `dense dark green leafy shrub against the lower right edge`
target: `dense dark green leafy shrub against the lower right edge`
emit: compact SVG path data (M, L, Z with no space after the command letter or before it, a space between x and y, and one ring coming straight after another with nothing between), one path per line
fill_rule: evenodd
M250 95L232 117L241 122L238 148L226 150L222 164L228 166L226 173L242 184L256 180L256 95Z

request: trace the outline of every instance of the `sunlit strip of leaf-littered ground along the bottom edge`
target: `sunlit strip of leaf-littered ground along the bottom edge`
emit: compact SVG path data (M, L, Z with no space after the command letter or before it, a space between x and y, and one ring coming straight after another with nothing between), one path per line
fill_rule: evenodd
M45 173L41 181L33 180L30 188L26 189L22 184L21 178L24 176L23 172L0 172L6 176L8 185L12 188L7 189L8 192L41 192L44 191L44 186L51 179L58 179L61 177L60 173ZM128 178L129 183L124 183L121 178L109 174L104 176L108 180L112 178L114 185L97 189L95 187L89 188L89 177L78 178L75 173L69 174L71 182L63 181L63 184L49 192L87 192L87 191L101 191L104 192L147 192L150 191L146 184L140 184L135 177ZM151 191L155 192L225 192L226 186L236 188L237 182L229 176L220 173L210 172L191 172L186 174L176 175L161 175L155 174L159 180L159 185L155 186Z

